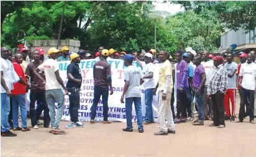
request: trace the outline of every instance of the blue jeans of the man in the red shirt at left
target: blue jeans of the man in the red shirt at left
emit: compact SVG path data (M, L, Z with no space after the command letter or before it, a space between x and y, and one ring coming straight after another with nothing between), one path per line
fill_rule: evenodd
M25 94L12 95L12 122L14 128L19 127L18 110L21 108L21 127L27 128L27 110L25 109Z

